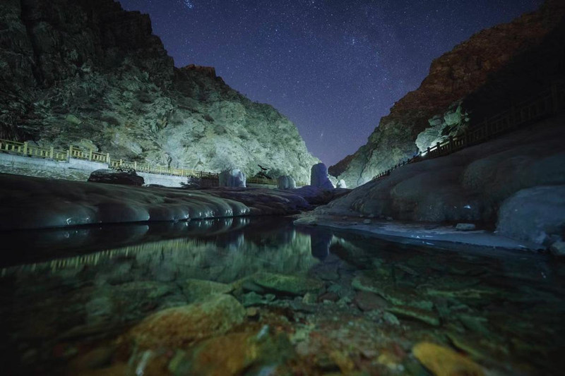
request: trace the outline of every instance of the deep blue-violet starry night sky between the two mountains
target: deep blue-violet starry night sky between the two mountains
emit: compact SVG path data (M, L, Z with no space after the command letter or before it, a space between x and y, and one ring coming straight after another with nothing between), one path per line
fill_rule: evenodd
M328 166L355 152L432 59L542 0L121 0L176 66L214 66L293 121Z

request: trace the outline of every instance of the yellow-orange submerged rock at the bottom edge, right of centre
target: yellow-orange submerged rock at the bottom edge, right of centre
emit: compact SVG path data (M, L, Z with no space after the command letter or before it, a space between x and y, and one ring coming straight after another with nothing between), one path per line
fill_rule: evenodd
M465 358L451 348L420 342L412 347L412 353L436 376L484 376L484 371L469 358Z

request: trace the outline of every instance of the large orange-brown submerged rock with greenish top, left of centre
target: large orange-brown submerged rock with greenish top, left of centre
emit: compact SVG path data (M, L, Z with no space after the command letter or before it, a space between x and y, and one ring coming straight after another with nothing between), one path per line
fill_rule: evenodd
M131 329L129 338L138 348L181 348L225 333L245 317L245 308L233 296L217 295L150 315Z

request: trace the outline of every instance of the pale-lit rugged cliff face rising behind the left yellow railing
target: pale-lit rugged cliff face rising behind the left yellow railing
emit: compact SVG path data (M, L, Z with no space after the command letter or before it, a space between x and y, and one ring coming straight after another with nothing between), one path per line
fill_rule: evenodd
M149 17L112 0L1 2L0 138L300 181L319 162L294 124L214 68L174 68Z

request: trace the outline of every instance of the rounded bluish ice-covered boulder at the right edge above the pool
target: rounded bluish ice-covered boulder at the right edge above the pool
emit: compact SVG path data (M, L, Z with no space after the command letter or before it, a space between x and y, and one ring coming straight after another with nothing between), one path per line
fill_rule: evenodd
M565 185L518 191L503 202L496 231L548 246L560 240L565 231Z

